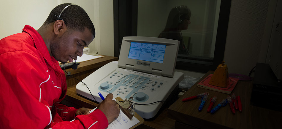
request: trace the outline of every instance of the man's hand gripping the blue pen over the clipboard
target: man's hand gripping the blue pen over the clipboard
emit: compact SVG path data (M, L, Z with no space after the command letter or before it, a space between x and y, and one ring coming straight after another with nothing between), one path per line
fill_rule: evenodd
M113 97L113 94L109 93L97 107L106 115L109 123L118 117L120 111L119 105L113 100Z

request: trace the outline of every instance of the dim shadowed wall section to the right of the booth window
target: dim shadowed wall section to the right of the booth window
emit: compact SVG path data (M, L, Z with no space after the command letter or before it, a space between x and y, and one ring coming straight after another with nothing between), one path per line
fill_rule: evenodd
M277 0L232 0L224 52L229 73L248 75L265 63Z

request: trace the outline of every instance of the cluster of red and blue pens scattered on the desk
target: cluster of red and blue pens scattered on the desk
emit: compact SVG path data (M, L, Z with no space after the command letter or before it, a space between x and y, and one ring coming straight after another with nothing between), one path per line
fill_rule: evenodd
M189 100L193 100L193 99L197 99L197 98L201 98L201 104L199 106L199 111L202 111L205 102L207 101L207 96L209 95L208 92L206 93L201 93L198 94L196 96L191 96L188 98L183 99L182 101L189 101ZM216 102L216 96L213 96L213 98L210 99L210 105L207 108L207 112L210 112L211 114L215 113L219 108L224 107L227 103L229 103L230 109L232 111L233 114L235 114L235 109L239 110L239 112L242 112L242 104L241 104L241 99L240 96L235 96L234 93L232 93L232 98L228 95L227 99L223 99L219 104L216 105L216 107L213 108L213 105ZM213 108L213 109L212 109Z

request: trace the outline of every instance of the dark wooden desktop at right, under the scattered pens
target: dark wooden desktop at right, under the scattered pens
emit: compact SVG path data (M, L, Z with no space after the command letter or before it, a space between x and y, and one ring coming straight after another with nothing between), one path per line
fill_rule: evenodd
M212 74L213 71L207 72L203 78ZM197 83L199 83L199 81ZM196 84L197 84L196 83ZM281 128L282 112L277 112L261 107L255 107L250 104L252 81L238 81L232 93L241 97L242 112L236 110L232 114L229 105L221 107L214 114L207 113L209 101L206 102L201 112L198 111L200 99L194 99L187 102L181 100L199 93L209 92L208 100L211 97L217 96L214 107L226 98L228 94L211 91L204 88L199 88L196 85L192 86L183 96L181 96L168 109L168 116L175 119L175 128Z

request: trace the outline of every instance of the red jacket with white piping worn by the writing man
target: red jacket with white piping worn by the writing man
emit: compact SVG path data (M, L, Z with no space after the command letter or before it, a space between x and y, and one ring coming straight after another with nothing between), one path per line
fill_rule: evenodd
M99 109L75 118L77 109L59 104L66 96L66 77L43 38L29 25L22 33L0 40L0 82L0 128L108 126Z

